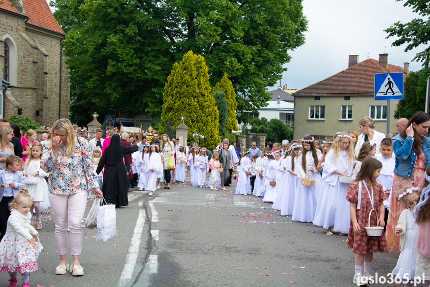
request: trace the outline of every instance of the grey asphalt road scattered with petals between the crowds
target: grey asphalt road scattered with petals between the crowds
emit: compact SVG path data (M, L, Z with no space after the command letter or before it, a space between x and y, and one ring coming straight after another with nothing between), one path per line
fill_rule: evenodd
M117 235L108 242L84 227L81 265L85 275L54 274L59 257L52 214L43 214L45 252L32 286L197 287L354 286L354 254L346 237L327 236L310 223L291 222L253 196L172 184L153 196L134 190L130 205L116 209ZM92 200L88 201L88 213ZM372 274L386 276L398 254L375 254ZM71 256L68 256L71 262ZM0 273L0 287L8 286ZM18 280L18 286L20 286ZM372 286L403 286L373 284Z

